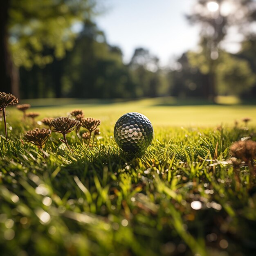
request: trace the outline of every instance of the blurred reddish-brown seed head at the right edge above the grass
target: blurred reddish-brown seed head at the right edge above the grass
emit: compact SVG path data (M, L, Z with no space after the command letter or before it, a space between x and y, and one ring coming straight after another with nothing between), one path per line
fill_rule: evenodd
M256 142L251 139L235 141L229 147L229 153L232 157L242 159L245 163L248 163L256 156Z

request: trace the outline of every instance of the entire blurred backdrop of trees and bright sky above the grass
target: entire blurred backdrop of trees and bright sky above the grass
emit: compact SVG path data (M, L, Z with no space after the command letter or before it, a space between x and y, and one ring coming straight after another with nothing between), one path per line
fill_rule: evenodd
M5 0L0 19L20 99L256 99L255 0Z

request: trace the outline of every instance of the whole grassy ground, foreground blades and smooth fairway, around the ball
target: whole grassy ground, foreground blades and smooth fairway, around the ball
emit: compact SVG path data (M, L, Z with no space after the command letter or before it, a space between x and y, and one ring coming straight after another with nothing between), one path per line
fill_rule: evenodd
M256 141L256 106L168 100L30 101L37 121L76 108L101 119L91 146L67 135L71 152L54 132L43 151L23 142L34 126L8 107L9 142L0 122L0 255L254 256L255 176L247 164L231 164L229 147ZM141 156L121 152L112 137L131 111L155 128Z

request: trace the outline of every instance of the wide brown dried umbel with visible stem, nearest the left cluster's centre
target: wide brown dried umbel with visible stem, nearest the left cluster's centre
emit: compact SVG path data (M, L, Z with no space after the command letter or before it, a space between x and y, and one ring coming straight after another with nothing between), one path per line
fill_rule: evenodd
M57 117L51 121L51 126L54 128L54 132L59 132L63 135L63 139L60 139L63 143L66 144L67 148L70 150L69 145L67 144L66 135L69 132L72 132L77 126L79 126L80 122L76 119L72 119L69 117ZM71 150L70 150L71 151Z

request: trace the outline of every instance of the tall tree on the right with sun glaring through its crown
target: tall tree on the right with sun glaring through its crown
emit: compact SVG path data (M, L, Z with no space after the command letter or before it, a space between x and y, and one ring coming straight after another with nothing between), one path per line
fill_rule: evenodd
M187 16L192 25L201 27L200 47L209 75L209 99L214 100L216 96L216 60L227 34L234 27L243 33L248 31L248 24L255 19L255 13L254 0L197 0L191 15Z

